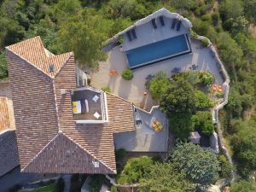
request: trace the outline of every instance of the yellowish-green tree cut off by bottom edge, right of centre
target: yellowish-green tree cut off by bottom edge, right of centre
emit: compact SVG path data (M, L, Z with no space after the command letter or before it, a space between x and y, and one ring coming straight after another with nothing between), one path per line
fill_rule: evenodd
M142 192L162 192L195 191L192 183L186 179L183 173L177 172L171 163L156 163L151 166L150 172L140 180L139 191Z

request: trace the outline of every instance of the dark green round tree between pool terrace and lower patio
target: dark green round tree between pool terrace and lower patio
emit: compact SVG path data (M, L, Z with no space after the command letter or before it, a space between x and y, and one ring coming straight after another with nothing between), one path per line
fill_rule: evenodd
M173 114L193 113L195 111L193 87L185 80L171 81L166 93L160 98L160 109L168 117L172 117Z

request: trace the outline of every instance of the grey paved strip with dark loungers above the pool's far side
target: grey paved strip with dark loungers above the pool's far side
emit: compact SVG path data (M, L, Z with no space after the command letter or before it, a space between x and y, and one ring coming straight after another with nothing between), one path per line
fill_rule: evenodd
M137 38L133 38L129 41L127 33L123 34L124 42L122 44L123 50L135 49L146 44L153 44L155 42L172 38L181 34L188 33L188 29L182 24L179 31L177 31L177 22L175 27L172 29L172 19L163 16L165 26L161 26L160 17L155 19L157 28L154 28L152 22L149 21L141 26L135 27ZM131 34L132 35L132 34Z

